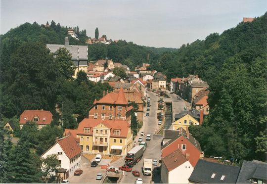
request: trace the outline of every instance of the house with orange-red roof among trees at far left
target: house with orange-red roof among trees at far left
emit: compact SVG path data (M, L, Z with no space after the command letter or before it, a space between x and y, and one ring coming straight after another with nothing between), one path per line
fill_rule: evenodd
M47 110L24 110L20 115L19 125L22 128L27 122L36 122L38 129L42 129L52 122L52 113Z

